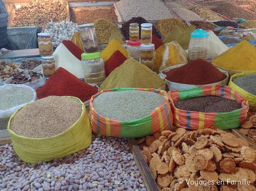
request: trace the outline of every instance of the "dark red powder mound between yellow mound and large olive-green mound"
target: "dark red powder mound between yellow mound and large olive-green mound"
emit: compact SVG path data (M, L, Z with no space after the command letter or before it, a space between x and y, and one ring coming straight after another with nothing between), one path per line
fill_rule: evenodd
M127 58L119 50L115 51L111 57L105 62L105 76L108 77L110 73L121 64L123 64Z

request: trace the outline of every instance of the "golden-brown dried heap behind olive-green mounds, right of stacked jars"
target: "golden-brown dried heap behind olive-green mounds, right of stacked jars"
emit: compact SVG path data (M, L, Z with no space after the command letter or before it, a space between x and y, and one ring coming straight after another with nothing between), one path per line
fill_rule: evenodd
M175 27L179 27L182 31L184 31L188 26L182 19L170 18L163 19L156 24L159 32L166 37L168 33L172 31Z

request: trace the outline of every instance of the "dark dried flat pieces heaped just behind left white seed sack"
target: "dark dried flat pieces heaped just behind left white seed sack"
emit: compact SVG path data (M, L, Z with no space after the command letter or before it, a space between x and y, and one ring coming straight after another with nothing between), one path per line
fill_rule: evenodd
M37 80L37 79L42 78L42 77L43 77L42 73L27 71L27 69L25 69L24 71L15 72L13 74L13 78L10 81L10 83L12 83L12 84L22 84L22 83L26 83L26 82L32 82L32 81Z

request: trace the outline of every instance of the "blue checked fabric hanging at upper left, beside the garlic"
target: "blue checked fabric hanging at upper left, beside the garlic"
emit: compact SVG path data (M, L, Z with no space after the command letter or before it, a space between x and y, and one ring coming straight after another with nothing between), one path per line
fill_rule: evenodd
M7 28L13 50L37 48L37 28L38 26Z

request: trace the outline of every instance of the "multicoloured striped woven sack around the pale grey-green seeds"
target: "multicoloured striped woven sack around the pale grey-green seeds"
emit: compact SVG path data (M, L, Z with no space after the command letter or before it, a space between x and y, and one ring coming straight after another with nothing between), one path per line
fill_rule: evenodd
M93 107L93 100L100 94L108 91L151 91L161 95L165 95L162 103L155 108L149 115L130 121L113 120L103 117L98 114ZM127 92L129 96L129 92ZM136 109L136 107L134 108ZM170 106L170 99L167 92L160 89L143 89L143 88L114 88L105 89L96 95L93 95L90 100L89 119L92 125L92 131L100 135L113 136L113 137L144 137L150 134L158 133L163 130L171 130L172 125L172 112Z

